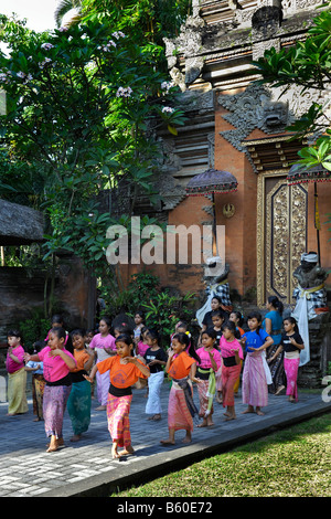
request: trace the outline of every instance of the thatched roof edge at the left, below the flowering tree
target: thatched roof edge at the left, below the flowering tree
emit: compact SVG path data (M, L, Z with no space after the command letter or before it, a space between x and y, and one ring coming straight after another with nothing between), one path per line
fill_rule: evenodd
M42 213L0 200L0 245L25 245L43 240Z

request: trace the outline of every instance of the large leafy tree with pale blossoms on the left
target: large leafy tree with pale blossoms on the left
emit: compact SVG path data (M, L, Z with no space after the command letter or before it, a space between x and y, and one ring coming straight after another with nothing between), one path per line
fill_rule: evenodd
M139 190L156 202L154 130L183 124L177 88L158 71L160 49L122 33L119 14L41 34L0 20L10 46L0 54L0 195L44 212L45 261L75 252L96 275L107 267L106 230L116 223L100 212L98 193L130 187L129 214Z

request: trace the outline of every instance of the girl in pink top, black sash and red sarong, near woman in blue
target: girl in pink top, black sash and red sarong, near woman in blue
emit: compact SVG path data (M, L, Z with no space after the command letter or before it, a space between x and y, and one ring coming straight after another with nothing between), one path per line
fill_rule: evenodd
M220 347L221 356L223 359L222 368L222 393L223 393L223 407L227 407L224 413L226 421L235 420L235 402L234 402L234 388L241 374L242 362L244 359L243 349L237 341L236 325L233 321L227 321L222 326L223 335L221 337Z

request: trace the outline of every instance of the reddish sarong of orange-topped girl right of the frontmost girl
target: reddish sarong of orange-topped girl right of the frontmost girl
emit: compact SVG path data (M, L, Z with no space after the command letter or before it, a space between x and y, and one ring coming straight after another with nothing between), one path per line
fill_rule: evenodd
M193 394L191 381L189 381L189 384ZM193 417L186 404L184 390L174 380L169 394L168 427L174 431L182 428L193 431Z

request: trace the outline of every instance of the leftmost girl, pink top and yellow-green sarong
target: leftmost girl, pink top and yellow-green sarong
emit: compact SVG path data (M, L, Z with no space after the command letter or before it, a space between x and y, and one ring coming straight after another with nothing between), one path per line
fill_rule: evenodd
M24 370L24 349L21 346L19 330L8 332L8 352L6 368L8 371L8 415L26 413L26 371Z

